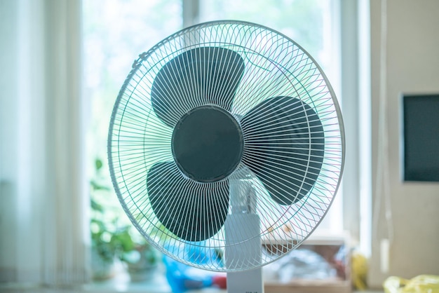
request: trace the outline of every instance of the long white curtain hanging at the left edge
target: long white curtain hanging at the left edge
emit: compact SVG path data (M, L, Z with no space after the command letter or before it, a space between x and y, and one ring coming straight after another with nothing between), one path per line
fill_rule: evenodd
M0 281L88 280L81 0L0 0Z

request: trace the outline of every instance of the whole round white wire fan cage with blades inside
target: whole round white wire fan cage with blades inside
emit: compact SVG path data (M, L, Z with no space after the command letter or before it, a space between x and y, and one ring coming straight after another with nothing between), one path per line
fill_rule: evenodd
M184 264L241 271L318 226L342 175L344 129L301 46L249 22L206 22L135 60L108 156L121 205L151 244Z

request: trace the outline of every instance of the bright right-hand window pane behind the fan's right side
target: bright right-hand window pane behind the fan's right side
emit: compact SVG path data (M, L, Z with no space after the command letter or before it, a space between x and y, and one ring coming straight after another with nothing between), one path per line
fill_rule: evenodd
M204 0L201 1L199 18L201 21L245 20L285 34L316 59L341 102L337 4L338 0L256 0L251 4L245 0ZM314 235L342 235L341 191L342 188Z

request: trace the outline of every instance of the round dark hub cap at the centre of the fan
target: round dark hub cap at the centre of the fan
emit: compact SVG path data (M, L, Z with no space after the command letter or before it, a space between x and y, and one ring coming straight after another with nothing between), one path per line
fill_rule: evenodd
M243 156L243 132L228 111L213 105L191 109L175 125L172 150L178 168L197 182L229 176Z

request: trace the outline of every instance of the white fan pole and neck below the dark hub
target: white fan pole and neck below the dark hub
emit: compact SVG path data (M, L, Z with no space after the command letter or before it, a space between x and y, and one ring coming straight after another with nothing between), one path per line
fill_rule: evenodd
M260 220L256 211L255 189L248 179L230 180L231 214L225 222L227 292L263 293ZM248 271L243 268L257 267Z

